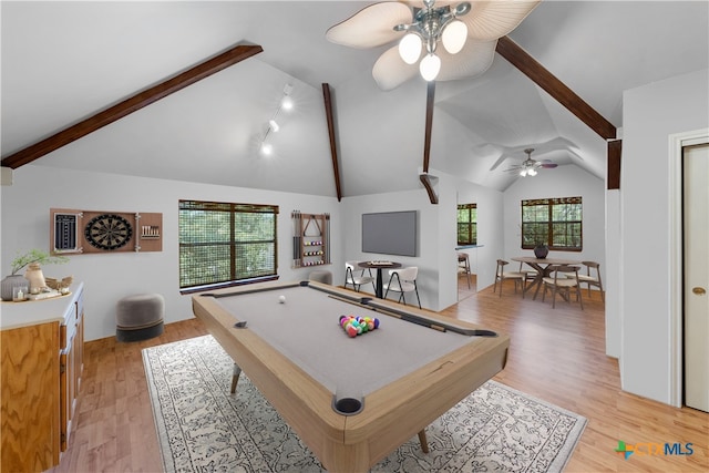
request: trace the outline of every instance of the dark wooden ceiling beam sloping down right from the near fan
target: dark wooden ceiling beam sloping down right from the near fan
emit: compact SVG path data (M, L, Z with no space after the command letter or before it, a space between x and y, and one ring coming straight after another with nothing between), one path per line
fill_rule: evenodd
M616 127L588 105L574 91L540 64L508 37L497 40L497 53L544 89L604 140L616 138Z

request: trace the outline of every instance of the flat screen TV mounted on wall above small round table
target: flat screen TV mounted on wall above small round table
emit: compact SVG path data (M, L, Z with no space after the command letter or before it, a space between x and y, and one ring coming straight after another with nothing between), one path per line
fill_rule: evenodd
M362 253L417 256L417 210L362 214Z

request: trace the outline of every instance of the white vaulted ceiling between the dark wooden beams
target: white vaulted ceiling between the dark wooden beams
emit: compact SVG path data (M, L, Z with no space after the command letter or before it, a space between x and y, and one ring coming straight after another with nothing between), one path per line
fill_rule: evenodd
M325 39L370 3L2 1L2 157L253 43L264 52L33 164L336 196L327 83L342 195L422 188L425 83L381 92L371 68L387 47ZM709 66L709 2L546 0L510 37L621 128L625 90ZM264 157L286 84L296 109ZM605 176L605 141L502 56L480 78L436 84L432 171L505 189L525 147Z

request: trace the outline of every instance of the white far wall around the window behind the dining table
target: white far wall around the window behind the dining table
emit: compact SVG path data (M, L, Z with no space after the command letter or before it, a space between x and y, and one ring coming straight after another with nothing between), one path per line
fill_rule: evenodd
M521 202L530 198L575 197L583 198L583 250L549 251L549 258L590 260L600 264L602 277L606 266L605 183L576 165L542 169L534 177L518 178L504 194L504 258L526 255L522 249ZM613 290L613 288L605 288Z

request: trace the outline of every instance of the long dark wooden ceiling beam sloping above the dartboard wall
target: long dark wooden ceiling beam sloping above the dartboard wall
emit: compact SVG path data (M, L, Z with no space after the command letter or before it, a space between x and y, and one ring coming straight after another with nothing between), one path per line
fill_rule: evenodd
M34 143L17 153L2 158L2 166L18 168L31 163L45 154L49 154L69 143L79 140L96 130L115 122L137 110L143 109L167 95L194 84L209 75L234 65L254 54L264 51L260 45L236 45L212 59L208 59L185 72L181 72L157 85L145 89L142 92L126 99L109 109L105 109L81 122L71 125L52 136Z

